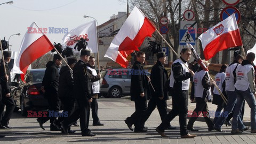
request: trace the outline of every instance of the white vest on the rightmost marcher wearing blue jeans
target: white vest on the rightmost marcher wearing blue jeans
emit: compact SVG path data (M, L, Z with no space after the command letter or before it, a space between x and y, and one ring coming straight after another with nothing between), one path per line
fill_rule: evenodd
M241 64L237 66L236 69L236 83L235 88L237 90L245 91L249 88L249 80L247 73L253 69L251 64L246 64L242 66Z

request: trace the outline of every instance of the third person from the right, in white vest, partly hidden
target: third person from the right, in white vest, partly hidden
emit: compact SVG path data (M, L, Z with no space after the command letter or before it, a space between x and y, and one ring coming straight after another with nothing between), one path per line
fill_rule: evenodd
M222 92L222 94L227 98L226 92L225 92L225 87L226 87L226 80L225 80L226 79L226 73L225 72L226 72L226 69L227 69L227 65L222 64L221 67L220 67L220 72L218 72L215 75L215 82L216 82L216 85L218 86L218 88L220 89L220 91ZM226 104L224 103L222 97L219 94L219 91L215 87L213 89L212 104L217 105L217 109L215 111L215 116L214 116L214 120L213 120L213 123L215 123L218 120L223 107L226 107Z

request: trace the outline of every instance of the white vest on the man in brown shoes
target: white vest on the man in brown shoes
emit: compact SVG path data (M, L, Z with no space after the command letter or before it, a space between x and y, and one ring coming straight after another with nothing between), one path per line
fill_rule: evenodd
M186 72L188 72L188 68L185 66L185 64L180 60L180 59L177 59L173 62L174 63L180 63L182 68L183 68L183 74L185 74ZM188 64L186 63L186 65L188 66ZM171 66L172 67L172 66ZM187 79L187 80L183 80L182 81L182 86L181 86L181 89L182 90L188 90L189 89L189 81L190 79ZM173 85L174 85L174 77L173 77L173 71L171 69L171 76L170 76L170 87L173 88Z

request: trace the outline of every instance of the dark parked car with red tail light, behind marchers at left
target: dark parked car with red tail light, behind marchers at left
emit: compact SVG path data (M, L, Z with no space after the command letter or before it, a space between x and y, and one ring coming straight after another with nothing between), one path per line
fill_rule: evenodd
M27 116L27 111L45 111L48 101L41 90L45 69L27 70L25 81L20 81L11 90L16 108L21 109L21 115ZM15 83L13 83L15 85Z

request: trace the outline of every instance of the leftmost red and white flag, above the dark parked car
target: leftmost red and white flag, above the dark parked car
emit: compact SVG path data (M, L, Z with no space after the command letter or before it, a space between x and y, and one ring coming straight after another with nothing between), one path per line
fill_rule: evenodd
M28 30L25 33L18 57L14 60L13 73L26 74L28 66L32 62L54 48L51 41L39 30L35 22L29 28L36 29L37 33Z

